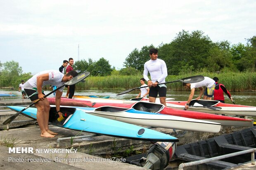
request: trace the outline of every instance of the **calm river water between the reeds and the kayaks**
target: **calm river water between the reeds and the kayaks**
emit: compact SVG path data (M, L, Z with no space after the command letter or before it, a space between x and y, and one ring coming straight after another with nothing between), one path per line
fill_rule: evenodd
M66 88L65 88L66 89ZM130 99L135 98L139 90L134 90L129 93L123 94L123 95L116 95L120 93L121 91L114 91L114 90L76 90L75 95L95 95L97 97L105 97L109 96L109 98L114 99ZM0 99L21 99L21 93L19 91L13 91L11 89L0 89L0 94L16 94L16 97L0 97ZM45 94L50 93L50 91L46 90ZM230 92L232 95L232 98L237 105L249 105L249 106L256 106L256 92ZM66 90L63 92L63 96L66 95ZM190 95L190 91L167 91L167 98L175 98L175 100L178 101L185 101L188 99L188 96ZM194 98L196 98L199 95L199 91L195 92ZM53 97L53 94L51 94L49 97ZM227 97L227 95L224 94L225 102L233 104L232 101Z

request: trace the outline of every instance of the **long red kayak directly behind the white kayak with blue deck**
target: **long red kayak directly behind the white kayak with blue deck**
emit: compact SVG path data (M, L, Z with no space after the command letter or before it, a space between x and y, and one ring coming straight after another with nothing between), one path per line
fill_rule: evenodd
M50 105L55 105L55 98L47 98ZM78 107L101 107L101 106L116 106L123 108L134 108L136 110L153 112L160 114L167 114L172 116L181 116L191 119L199 119L205 121L212 121L220 123L223 126L253 126L253 121L250 119L242 119L237 117L222 116L218 114L208 114L203 112L194 112L188 110L173 109L165 107L162 104L150 103L150 102L135 102L133 104L126 103L107 103L107 102L90 102L86 100L75 100L69 98L62 98L61 105L63 106L78 106Z

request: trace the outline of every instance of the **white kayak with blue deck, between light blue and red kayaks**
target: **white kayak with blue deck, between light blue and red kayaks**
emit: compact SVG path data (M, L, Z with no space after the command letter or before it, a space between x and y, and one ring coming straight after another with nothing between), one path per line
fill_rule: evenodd
M88 114L142 126L172 128L217 133L220 123L139 111L134 108L102 106L97 108L76 107Z

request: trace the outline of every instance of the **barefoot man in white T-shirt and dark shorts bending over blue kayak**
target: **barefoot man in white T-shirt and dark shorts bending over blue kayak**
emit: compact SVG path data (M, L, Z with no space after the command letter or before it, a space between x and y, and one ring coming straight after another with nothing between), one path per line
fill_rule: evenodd
M25 83L24 90L30 100L32 102L36 102L38 99L40 100L35 103L35 106L37 108L36 118L41 130L41 137L55 137L57 135L57 133L49 130L48 127L50 104L47 98L44 98L45 94L43 93L42 87L45 85L60 87L77 75L77 72L73 70L66 75L59 72L59 70L46 70L34 75ZM59 116L62 116L60 112L60 100L64 88L65 86L56 91L55 102Z

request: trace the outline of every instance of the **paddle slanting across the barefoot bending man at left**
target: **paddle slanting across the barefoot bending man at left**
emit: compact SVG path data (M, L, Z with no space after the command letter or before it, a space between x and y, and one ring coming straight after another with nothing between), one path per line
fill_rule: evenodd
M55 91L59 90L60 88L64 87L64 86L70 86L73 84L76 84L78 82L81 82L83 79L85 79L86 77L88 77L90 75L90 72L83 72L81 75L78 75L76 77L74 77L73 79L69 80L68 82L66 82L65 84L63 84L62 86L56 88L54 91L51 91L50 93L48 93L47 95L44 96L44 98L46 98L47 96L49 96L50 94L54 93ZM23 112L24 110L26 110L27 108L33 106L34 104L36 104L38 101L40 101L39 99L36 100L35 102L31 103L30 105L28 105L27 107L25 107L24 109L22 109L21 111L17 112L16 114L10 116L8 119L6 119L2 124L6 125L11 123L21 112Z

